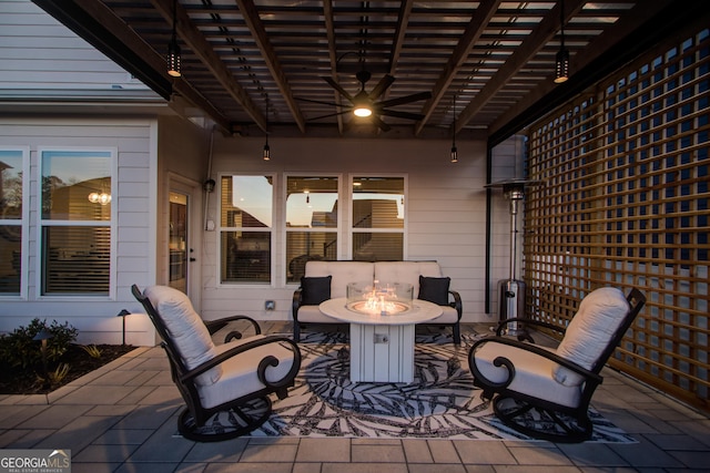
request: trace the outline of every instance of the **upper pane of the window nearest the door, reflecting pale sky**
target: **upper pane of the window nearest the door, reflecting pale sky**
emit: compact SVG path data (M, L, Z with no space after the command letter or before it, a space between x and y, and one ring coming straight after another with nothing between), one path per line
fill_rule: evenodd
M222 177L222 227L272 226L273 183L267 176Z

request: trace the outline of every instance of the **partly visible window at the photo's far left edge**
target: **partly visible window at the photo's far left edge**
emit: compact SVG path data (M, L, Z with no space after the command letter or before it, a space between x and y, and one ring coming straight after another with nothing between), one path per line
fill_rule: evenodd
M0 296L19 296L22 270L24 153L0 150Z

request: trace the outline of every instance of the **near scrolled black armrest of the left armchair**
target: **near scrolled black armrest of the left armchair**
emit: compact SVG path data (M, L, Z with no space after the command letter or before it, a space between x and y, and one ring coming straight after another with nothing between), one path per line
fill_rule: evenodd
M293 380L293 378L296 376L296 373L298 372L298 369L301 369L301 350L298 349L298 346L291 339L285 338L285 337L278 337L278 336L266 336L266 337L260 337L255 340L250 340L246 341L237 347L234 347L223 353L217 354L216 357L214 357L211 360L205 361L204 363L200 364L199 367L187 371L186 373L182 374L180 377L180 381L182 383L184 382L193 382L194 378L204 373L205 371L223 363L224 361L229 360L230 358L233 358L240 353L245 353L248 350L253 350L254 348L257 347L263 347L265 345L271 345L271 343L285 343L290 346L290 350L293 352L293 357L294 357L294 361L293 364L291 367L291 370L288 370L288 373L286 373L285 377L283 377L283 379L278 380L278 381L268 381L266 379L266 370L268 367L275 367L278 364L278 359L276 359L276 357L270 354L264 357L260 362L258 362L258 369L257 369L257 377L258 380L264 383L264 385L270 387L270 388L283 388L284 385L286 385L288 382L291 382L291 380Z

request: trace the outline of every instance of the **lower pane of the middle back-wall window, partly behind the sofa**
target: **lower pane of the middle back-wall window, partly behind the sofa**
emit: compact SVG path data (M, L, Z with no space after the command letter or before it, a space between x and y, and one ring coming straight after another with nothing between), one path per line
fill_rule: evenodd
M286 233L286 282L300 282L306 261L313 259L337 259L337 234L335 232Z

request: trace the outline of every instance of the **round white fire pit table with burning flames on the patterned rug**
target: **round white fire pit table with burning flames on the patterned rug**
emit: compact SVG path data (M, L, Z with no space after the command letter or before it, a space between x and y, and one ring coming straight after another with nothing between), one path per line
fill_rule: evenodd
M440 316L442 307L413 300L410 291L408 300L379 288L369 294L365 291L364 296L352 296L348 285L348 297L321 304L323 313L349 323L351 381L414 381L416 325Z

